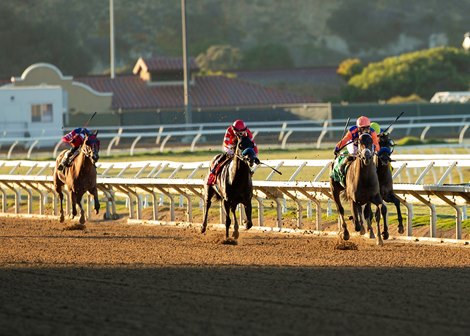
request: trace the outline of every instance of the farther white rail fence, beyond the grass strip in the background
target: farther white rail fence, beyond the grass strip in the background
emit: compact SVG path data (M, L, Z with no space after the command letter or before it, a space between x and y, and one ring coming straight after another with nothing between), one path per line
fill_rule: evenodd
M377 118L383 127L390 125L395 118ZM288 148L289 144L308 143L312 147L322 148L336 142L342 133L346 120L292 120L251 122L250 129L257 141L264 146ZM439 138L454 139L456 145L466 147L465 135L470 126L470 115L455 116L416 116L400 118L390 130L400 136L415 135L421 140L429 134L441 130ZM106 155L126 151L131 156L139 148L148 151L149 147L160 152L168 148L186 148L194 151L198 146L220 145L225 133L226 123L192 124L192 125L144 125L144 126L100 126L100 139ZM446 129L446 133L442 129ZM3 130L0 134L0 157L6 159L31 159L34 153L48 151L49 156L56 157L62 142L56 137L41 136L37 138L18 137L15 130ZM44 134L47 131L44 130ZM53 148L45 143L56 143ZM330 144L328 144L330 142ZM104 152L104 151L102 151Z

